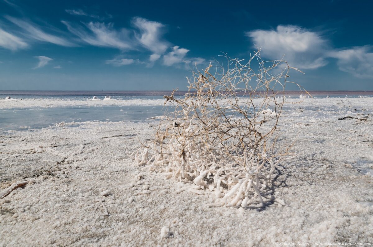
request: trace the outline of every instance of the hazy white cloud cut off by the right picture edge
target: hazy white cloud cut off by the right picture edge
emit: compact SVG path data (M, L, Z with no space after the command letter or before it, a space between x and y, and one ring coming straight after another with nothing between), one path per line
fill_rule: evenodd
M372 46L359 46L351 49L331 51L328 56L338 59L339 70L358 78L373 78Z

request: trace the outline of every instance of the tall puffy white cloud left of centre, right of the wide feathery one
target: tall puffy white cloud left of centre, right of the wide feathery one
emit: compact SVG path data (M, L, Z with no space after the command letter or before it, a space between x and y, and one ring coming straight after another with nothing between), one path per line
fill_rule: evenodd
M169 43L161 40L164 33L162 23L140 17L134 18L132 23L140 30L140 35L137 34L136 38L142 46L157 55L163 54L167 50Z

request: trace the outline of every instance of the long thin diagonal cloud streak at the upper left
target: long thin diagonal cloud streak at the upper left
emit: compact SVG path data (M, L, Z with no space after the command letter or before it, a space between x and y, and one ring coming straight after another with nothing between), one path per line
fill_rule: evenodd
M34 40L44 41L52 44L58 44L60 46L75 46L75 44L66 40L65 38L58 37L53 34L47 34L42 31L32 22L26 22L18 18L13 18L11 16L6 16L6 18L16 24L18 27L26 31L25 36L32 38Z

